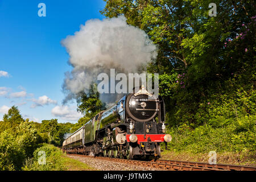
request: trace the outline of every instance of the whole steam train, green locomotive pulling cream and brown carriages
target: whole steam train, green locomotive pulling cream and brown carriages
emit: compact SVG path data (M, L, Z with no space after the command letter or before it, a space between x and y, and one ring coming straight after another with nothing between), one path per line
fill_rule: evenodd
M63 142L72 154L93 154L114 158L159 158L160 143L171 142L166 133L162 97L144 86L101 111Z

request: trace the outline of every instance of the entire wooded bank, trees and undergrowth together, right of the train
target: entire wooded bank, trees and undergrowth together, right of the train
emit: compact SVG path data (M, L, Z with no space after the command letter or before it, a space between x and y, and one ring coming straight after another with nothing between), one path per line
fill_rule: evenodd
M254 1L214 1L212 17L209 3L106 0L101 13L158 45L147 72L159 73L172 150L255 151Z

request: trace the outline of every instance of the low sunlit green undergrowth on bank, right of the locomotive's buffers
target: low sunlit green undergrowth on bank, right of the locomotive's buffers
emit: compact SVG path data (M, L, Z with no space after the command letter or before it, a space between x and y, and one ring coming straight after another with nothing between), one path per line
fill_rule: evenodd
M251 115L239 118L222 127L202 125L191 129L186 124L172 127L168 131L172 135L172 142L168 144L168 148L195 154L208 153L212 150L216 152L255 152L255 121L256 115Z

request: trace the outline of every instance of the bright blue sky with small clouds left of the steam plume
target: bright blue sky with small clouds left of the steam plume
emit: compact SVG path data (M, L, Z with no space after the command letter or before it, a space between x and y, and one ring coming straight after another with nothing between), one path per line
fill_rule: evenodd
M46 4L46 17L38 4ZM71 71L61 40L89 19L103 19L103 0L0 0L0 118L13 105L23 118L77 121L76 102L62 106L64 73Z

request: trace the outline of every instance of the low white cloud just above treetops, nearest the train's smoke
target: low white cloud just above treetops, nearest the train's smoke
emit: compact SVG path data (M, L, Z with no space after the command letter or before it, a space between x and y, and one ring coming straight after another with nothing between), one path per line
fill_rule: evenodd
M82 117L82 114L77 113L75 109L71 109L68 106L55 106L52 109L52 115L60 117L65 121L77 121Z

